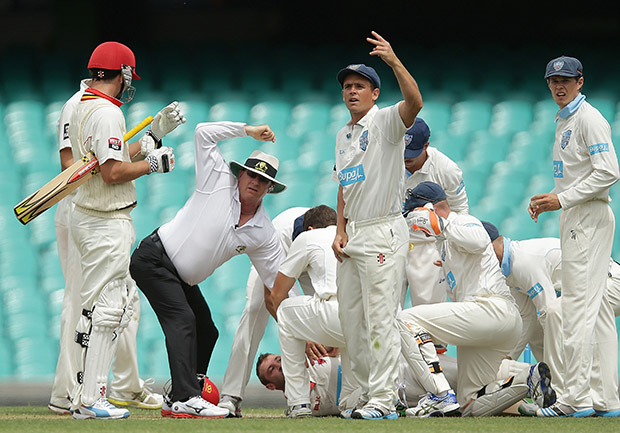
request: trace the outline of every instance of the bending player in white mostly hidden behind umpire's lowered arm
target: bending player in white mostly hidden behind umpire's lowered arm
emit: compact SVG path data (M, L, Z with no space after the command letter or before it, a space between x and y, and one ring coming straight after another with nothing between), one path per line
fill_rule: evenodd
M283 211L273 219L272 223L280 235L284 254L288 253L293 242L296 220L301 218L307 210L307 207L293 207ZM307 290L312 290L312 284L308 281L307 275L300 277L300 284L304 293L309 293ZM269 311L265 308L264 287L263 280L260 279L256 268L252 266L245 289L245 307L233 338L230 358L224 375L224 384L220 390L220 403L218 404L218 406L228 409L231 416L235 417L242 415L241 401L250 380L258 345L265 334L265 328L270 317Z

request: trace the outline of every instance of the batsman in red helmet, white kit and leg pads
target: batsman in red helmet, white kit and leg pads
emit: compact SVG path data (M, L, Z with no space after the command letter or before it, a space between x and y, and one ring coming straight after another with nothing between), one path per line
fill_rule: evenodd
M73 199L71 237L79 252L82 284L81 315L75 341L83 348L77 384L71 393L77 419L126 418L129 412L106 399L108 374L119 335L132 320L135 283L129 276L129 254L135 239L130 212L136 205L133 180L174 168L172 149L156 149L167 132L181 124L174 111L153 124L136 143L123 142L125 118L120 106L131 100L135 57L125 45L105 42L92 53L90 87L84 91L69 121L72 155L93 151L100 174L82 185ZM132 157L142 159L131 162ZM168 159L167 167L164 159Z

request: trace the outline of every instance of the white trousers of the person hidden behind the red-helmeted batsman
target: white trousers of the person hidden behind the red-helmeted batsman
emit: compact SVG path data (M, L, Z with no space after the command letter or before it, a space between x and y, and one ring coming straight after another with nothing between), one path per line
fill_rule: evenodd
M77 381L77 372L82 368L81 347L73 341L75 329L80 318L80 287L82 285L82 265L80 254L70 233L72 203L74 194L61 200L56 208L56 244L58 259L65 279L65 290L60 314L60 351L56 364L56 376L52 386L50 403L68 407L71 394ZM119 336L116 359L112 364L111 395L117 393L139 393L143 381L138 372L136 335L140 322L140 299L135 291L133 298L133 317L127 328Z

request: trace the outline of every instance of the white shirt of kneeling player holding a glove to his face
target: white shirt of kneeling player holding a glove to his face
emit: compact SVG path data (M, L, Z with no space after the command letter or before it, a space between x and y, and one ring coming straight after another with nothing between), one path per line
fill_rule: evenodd
M512 298L482 223L474 216L455 212L450 212L446 222L439 255L450 300L461 302L491 295Z

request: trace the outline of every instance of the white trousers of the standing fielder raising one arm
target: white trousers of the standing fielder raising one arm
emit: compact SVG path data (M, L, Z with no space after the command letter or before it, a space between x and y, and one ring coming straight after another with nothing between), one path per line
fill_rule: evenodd
M400 333L396 311L409 231L401 215L348 222L349 256L338 263L340 324L362 402L394 409Z

